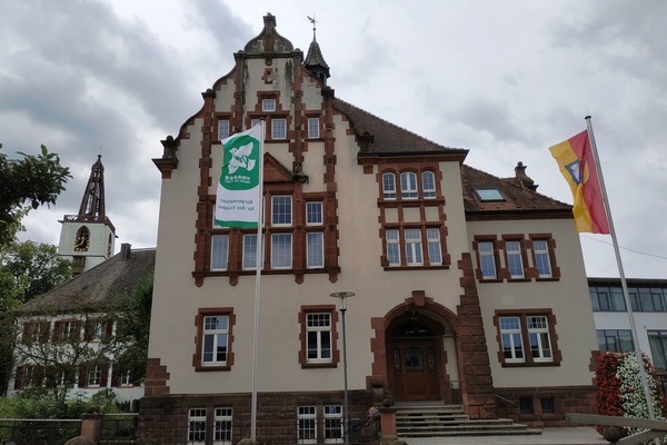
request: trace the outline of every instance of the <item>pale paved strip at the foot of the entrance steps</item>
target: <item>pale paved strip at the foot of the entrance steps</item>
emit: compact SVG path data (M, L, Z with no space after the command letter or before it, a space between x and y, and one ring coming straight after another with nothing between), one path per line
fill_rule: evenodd
M542 434L527 436L475 436L475 437L410 437L408 445L607 445L609 442L594 427L574 426L544 428Z

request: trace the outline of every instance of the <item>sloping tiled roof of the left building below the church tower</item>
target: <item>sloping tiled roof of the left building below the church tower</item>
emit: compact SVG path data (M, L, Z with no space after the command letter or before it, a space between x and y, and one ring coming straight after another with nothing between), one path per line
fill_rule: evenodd
M152 275L155 266L155 248L128 248L128 251L121 250L61 286L26 303L17 312L71 312L81 307L82 299L86 306L104 308L119 296L130 293L141 279Z

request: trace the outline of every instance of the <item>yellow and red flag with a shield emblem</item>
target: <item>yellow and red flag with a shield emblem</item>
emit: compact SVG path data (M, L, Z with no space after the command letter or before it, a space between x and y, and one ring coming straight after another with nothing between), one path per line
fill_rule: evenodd
M575 204L575 226L577 231L609 234L609 221L600 181L595 168L595 159L588 138L588 130L549 148L558 162L560 172L570 186Z

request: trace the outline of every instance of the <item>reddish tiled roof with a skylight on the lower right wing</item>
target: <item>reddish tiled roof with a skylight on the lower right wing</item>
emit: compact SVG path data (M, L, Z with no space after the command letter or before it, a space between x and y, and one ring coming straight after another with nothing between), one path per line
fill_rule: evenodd
M461 166L461 182L464 188L464 206L467 216L475 214L528 211L541 212L546 218L571 218L573 207L535 190L522 187L516 178L498 178L470 166ZM475 189L495 188L500 191L504 200L482 201ZM535 215L532 215L535 217ZM470 218L468 218L470 219Z

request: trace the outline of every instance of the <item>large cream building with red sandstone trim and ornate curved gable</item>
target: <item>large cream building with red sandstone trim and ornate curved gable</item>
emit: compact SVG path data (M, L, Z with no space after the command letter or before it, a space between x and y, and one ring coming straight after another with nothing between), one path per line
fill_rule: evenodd
M155 159L142 443L249 437L253 394L259 437L313 443L339 437L346 395L352 418L426 402L531 425L591 412L598 345L571 206L520 162L495 177L338 98L317 40L305 57L263 21ZM258 243L213 214L220 140L261 119ZM341 291L356 294L345 312Z

